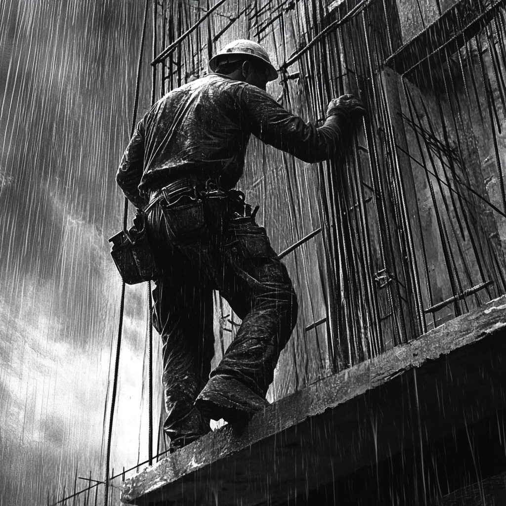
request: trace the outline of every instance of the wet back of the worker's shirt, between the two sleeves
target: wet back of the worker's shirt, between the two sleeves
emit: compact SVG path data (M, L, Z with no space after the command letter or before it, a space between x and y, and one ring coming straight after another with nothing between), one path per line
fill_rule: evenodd
M190 175L232 188L242 174L250 136L240 119L244 86L209 74L159 100L139 125L145 150L140 188L155 189Z

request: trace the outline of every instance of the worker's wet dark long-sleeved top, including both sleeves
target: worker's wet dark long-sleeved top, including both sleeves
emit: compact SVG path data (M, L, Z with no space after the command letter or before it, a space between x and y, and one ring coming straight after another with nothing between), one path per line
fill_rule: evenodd
M233 188L250 135L306 162L331 156L343 118L319 128L281 107L256 86L209 74L165 95L137 125L116 181L136 207L149 192L180 178L215 179Z

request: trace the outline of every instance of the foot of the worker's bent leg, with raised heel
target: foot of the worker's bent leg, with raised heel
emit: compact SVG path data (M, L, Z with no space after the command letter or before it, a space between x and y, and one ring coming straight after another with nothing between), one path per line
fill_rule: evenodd
M230 376L214 376L200 392L195 407L206 418L229 424L247 421L269 403Z

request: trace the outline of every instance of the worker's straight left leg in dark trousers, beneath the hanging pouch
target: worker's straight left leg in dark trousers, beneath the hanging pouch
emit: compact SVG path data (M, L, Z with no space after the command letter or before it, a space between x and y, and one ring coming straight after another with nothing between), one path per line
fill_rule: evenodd
M190 246L175 246L157 206L150 216L151 239L162 275L153 290L153 323L162 340L163 388L168 413L165 433L176 449L209 431L209 423L193 407L205 385L214 355L213 291ZM190 252L190 255L185 253Z

